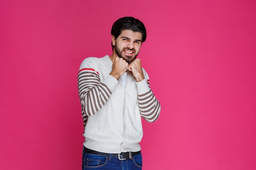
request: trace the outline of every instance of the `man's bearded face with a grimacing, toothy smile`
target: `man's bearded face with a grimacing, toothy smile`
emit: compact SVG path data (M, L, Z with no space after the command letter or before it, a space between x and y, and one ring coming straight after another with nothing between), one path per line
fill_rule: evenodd
M112 44L118 57L123 58L130 64L137 55L141 47L142 33L131 30L123 30L117 39L112 35Z

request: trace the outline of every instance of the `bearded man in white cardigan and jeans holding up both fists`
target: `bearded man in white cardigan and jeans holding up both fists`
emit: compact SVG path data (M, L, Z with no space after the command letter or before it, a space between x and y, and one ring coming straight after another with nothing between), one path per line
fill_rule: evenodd
M112 26L112 55L86 58L78 88L84 121L83 170L141 170L141 117L155 121L161 107L137 59L146 40L138 19L124 17Z

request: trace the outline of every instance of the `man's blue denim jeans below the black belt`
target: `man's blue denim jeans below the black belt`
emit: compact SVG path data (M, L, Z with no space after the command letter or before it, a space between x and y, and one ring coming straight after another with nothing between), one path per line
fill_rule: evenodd
M82 170L141 170L141 153L131 159L119 160L118 158L93 155L83 152Z

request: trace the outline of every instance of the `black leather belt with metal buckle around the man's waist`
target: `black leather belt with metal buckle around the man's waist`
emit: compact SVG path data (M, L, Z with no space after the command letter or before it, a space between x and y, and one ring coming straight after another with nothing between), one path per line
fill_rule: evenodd
M110 153L98 152L98 151L91 150L88 148L84 148L83 152L94 154L94 155L110 157ZM140 153L140 151L138 151L138 152L121 152L118 154L111 154L111 157L118 158L119 160L125 160L125 159L131 159L134 155L137 155L139 153Z

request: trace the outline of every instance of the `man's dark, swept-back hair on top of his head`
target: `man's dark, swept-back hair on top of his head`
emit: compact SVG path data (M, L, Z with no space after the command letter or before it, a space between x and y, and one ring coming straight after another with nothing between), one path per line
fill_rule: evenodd
M119 18L116 22L114 22L111 29L111 35L114 35L115 38L117 38L121 34L121 32L126 29L131 30L133 32L141 33L141 42L146 41L147 33L144 24L140 20L133 17ZM112 49L114 49L112 42L111 45Z

